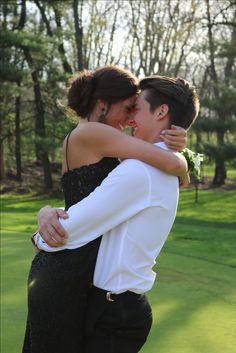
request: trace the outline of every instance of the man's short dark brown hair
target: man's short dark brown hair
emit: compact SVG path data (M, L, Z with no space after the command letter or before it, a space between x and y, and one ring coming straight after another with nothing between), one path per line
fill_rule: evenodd
M182 78L150 76L140 81L141 90L147 90L146 100L150 110L167 104L170 124L188 129L199 112L199 99L195 88Z

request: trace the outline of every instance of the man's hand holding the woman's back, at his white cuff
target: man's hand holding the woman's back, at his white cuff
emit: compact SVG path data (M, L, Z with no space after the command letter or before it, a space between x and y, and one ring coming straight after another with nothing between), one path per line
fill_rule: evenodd
M68 238L65 229L58 221L68 218L67 212L59 208L45 206L38 213L38 232L43 240L52 247L62 246Z

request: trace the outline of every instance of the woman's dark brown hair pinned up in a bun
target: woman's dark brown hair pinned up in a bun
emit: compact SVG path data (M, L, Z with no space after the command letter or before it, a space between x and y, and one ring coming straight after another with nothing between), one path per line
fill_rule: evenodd
M95 71L83 70L69 80L68 107L81 118L88 118L98 99L109 105L138 92L138 80L128 70L115 65Z

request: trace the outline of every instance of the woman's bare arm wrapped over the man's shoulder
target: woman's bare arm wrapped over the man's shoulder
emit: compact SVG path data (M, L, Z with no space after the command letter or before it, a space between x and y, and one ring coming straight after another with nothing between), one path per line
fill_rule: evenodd
M80 142L100 157L139 159L168 174L183 176L187 173L186 159L180 153L164 150L111 126L89 122L80 130L79 137Z

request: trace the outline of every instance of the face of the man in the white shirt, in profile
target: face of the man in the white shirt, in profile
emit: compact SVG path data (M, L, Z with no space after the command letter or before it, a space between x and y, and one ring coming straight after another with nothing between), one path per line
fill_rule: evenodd
M145 141L153 142L153 132L156 131L155 112L150 111L150 104L146 101L146 92L142 91L135 103L132 118L133 136Z

